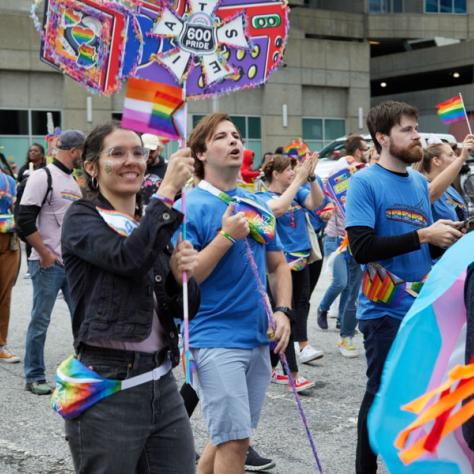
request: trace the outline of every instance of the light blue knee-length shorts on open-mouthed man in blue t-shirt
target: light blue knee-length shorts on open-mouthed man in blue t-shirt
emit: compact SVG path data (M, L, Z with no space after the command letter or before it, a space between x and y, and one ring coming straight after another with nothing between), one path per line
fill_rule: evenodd
M193 349L198 393L214 446L250 438L270 383L268 346Z

